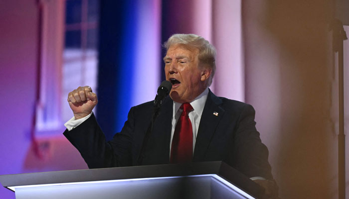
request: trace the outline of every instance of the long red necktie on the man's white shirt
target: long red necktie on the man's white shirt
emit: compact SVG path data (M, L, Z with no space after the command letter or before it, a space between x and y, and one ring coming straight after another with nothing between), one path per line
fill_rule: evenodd
M170 163L191 162L192 159L192 126L188 113L193 108L190 103L183 103L180 109L183 109L183 112L174 129Z

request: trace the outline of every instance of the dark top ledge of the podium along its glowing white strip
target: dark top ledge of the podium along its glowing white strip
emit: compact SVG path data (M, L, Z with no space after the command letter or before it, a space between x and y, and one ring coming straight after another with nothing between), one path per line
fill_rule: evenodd
M221 161L2 175L0 183L14 192L16 188L25 187L197 176L210 176L231 189L242 191L240 194L246 198L261 198L264 192L248 177Z

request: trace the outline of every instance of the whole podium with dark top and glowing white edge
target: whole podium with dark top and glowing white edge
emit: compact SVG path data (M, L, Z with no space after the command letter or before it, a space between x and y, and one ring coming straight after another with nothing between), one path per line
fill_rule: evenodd
M224 162L0 176L16 199L254 199L264 190Z

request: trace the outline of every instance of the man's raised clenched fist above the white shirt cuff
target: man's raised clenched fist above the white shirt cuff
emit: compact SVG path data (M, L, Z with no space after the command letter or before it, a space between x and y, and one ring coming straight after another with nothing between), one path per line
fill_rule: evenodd
M68 102L73 110L75 119L80 119L92 112L98 100L89 86L78 87L68 94Z

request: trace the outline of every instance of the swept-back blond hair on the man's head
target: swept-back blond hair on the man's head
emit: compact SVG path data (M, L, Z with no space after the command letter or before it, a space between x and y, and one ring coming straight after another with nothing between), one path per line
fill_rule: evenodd
M196 34L174 34L164 43L164 47L169 50L170 46L174 44L185 44L199 49L200 64L204 64L212 70L208 79L208 86L210 86L216 72L216 49L214 46Z

